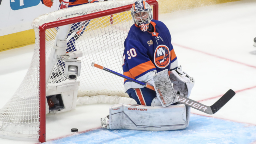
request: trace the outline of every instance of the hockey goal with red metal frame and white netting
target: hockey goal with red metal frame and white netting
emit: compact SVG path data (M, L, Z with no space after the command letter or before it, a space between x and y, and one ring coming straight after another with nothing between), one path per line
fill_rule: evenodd
M44 14L33 21L36 36L34 54L19 88L0 109L0 138L45 142L46 83L68 79L63 72L65 64L58 60L50 80L45 80L45 64L59 26L76 23L72 25L73 31L69 32L73 37L69 44L71 48L83 51L78 96L125 96L122 78L99 72L90 65L96 62L122 73L123 43L134 24L130 9L135 1L104 1L74 6ZM153 7L153 18L158 20L158 2L147 0L147 3Z

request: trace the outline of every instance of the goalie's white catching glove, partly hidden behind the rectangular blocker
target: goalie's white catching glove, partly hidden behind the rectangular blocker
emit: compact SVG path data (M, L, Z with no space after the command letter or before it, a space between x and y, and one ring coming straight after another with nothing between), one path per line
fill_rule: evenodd
M183 72L181 66L170 71L169 77L173 83L175 92L182 96L189 97L195 84L194 78L189 77L185 72Z

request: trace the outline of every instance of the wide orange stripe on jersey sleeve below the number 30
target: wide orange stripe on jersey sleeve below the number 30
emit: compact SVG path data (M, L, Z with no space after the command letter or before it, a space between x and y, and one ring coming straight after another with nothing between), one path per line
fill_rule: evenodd
M152 68L156 68L155 65L151 61L147 61L146 63L142 63L130 69L130 72L133 74L134 77L137 77L138 75Z

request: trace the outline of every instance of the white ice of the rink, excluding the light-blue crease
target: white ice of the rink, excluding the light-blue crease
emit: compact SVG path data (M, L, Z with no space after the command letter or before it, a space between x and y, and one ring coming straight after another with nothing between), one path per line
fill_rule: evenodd
M236 95L216 114L191 113L256 126L256 0L187 9L159 16L170 30L179 65L195 78L190 98L212 105L227 90ZM32 59L34 45L0 53L0 107L18 88ZM111 68L111 67L109 67ZM71 112L46 115L46 139L100 126L110 104L77 106ZM216 124L218 125L218 124ZM0 143L36 142L0 139ZM250 144L255 144L255 141Z

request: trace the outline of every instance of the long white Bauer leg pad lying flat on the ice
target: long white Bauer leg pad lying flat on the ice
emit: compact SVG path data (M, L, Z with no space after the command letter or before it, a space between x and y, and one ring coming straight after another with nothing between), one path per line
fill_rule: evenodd
M116 104L109 108L109 119L101 119L107 129L132 129L166 131L186 128L186 107L184 104L143 106Z

